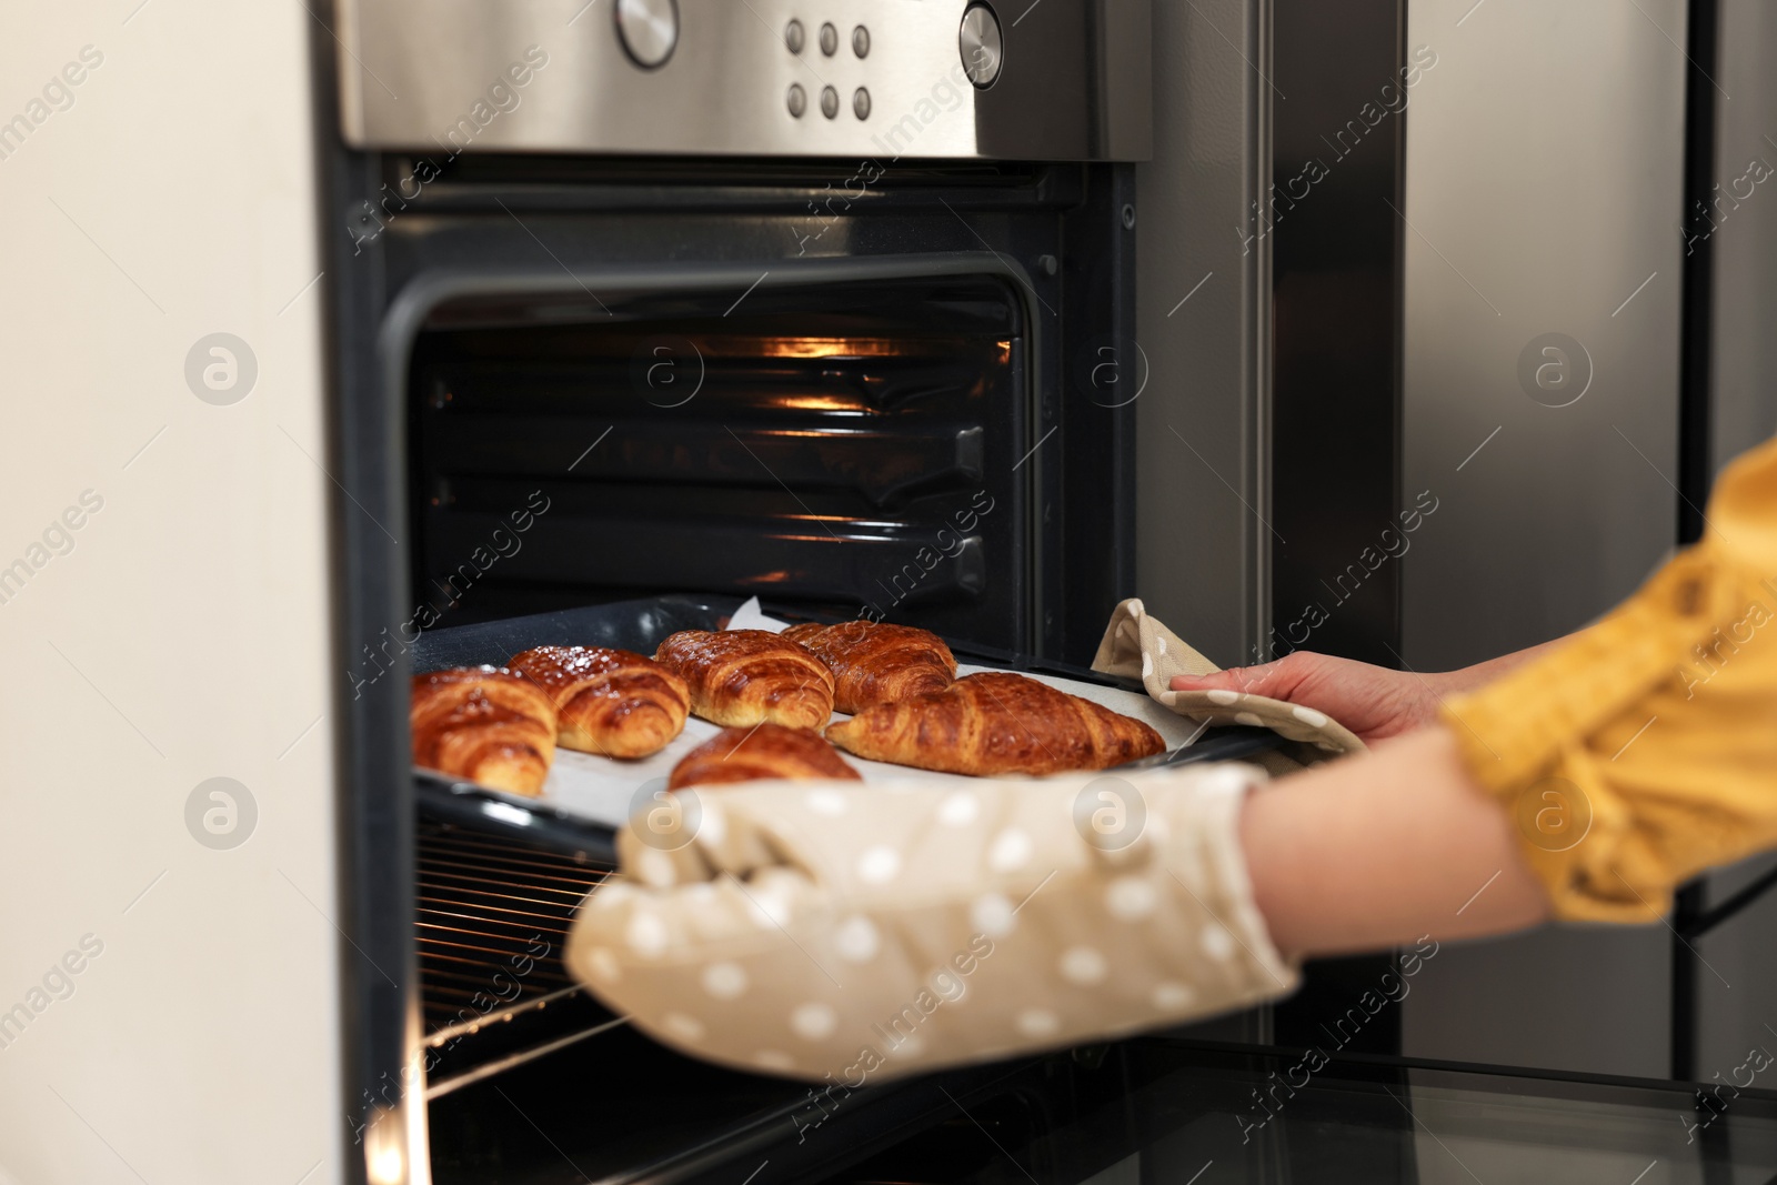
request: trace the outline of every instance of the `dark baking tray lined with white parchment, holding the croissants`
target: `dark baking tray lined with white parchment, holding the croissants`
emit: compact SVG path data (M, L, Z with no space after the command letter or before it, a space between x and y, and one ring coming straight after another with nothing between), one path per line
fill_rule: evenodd
M668 634L681 629L721 629L741 608L739 597L663 595L641 600L560 609L531 616L506 618L432 629L412 650L414 672L446 666L505 664L514 654L542 645L618 647L654 654ZM764 608L778 620L796 620L798 613ZM803 618L805 620L805 618ZM961 673L970 670L1018 670L1073 695L1136 716L1166 737L1167 750L1180 762L1230 760L1283 744L1267 728L1203 728L1155 704L1139 682L1116 679L1086 668L951 643ZM684 753L716 736L720 728L695 716L665 750L638 760L613 760L592 753L556 750L549 782L538 798L506 794L473 782L462 782L428 769L414 769L414 789L421 814L482 830L521 835L528 842L560 851L578 860L599 863L615 860L617 828L636 803L665 789L666 775ZM931 773L860 760L846 753L865 782L919 778L967 783L963 775Z

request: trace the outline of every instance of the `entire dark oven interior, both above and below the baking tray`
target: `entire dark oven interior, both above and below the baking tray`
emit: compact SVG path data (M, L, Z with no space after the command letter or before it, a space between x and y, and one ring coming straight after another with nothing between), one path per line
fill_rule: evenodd
M540 641L652 652L748 595L1034 648L1013 282L769 279L471 293L426 314L405 387L409 579L430 609L414 670ZM464 791L416 775L434 1180L551 1180L565 1160L506 1162L535 1151L531 1125L590 1135L563 1180L672 1176L702 1144L794 1130L805 1086L679 1057L563 970L611 837Z

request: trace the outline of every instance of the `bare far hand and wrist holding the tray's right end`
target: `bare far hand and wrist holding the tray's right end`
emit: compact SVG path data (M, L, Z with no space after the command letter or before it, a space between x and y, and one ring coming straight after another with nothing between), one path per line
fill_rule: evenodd
M1445 691L1441 679L1295 650L1262 666L1178 675L1173 691L1244 691L1299 704L1326 712L1368 744L1430 723Z

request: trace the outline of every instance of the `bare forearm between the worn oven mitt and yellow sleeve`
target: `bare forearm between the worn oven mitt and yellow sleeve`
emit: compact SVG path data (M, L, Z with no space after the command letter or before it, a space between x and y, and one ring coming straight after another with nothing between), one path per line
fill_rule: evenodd
M1255 791L1240 844L1285 954L1470 938L1550 915L1512 821L1443 725Z

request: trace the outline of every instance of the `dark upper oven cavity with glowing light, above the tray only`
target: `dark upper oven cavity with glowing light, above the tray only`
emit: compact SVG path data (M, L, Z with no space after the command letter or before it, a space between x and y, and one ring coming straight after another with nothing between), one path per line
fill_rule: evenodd
M697 590L1031 647L1009 281L588 297L458 300L416 341L410 579L441 624Z

